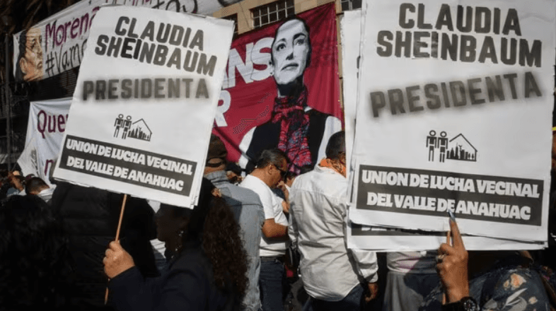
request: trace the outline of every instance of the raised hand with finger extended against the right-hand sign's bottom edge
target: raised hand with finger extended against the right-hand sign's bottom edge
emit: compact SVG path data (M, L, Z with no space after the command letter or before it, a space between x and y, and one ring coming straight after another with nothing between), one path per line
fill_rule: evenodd
M456 221L450 220L453 245L442 243L439 247L441 261L436 264L436 271L441 278L448 298L453 303L469 295L468 252L465 250L460 230Z

